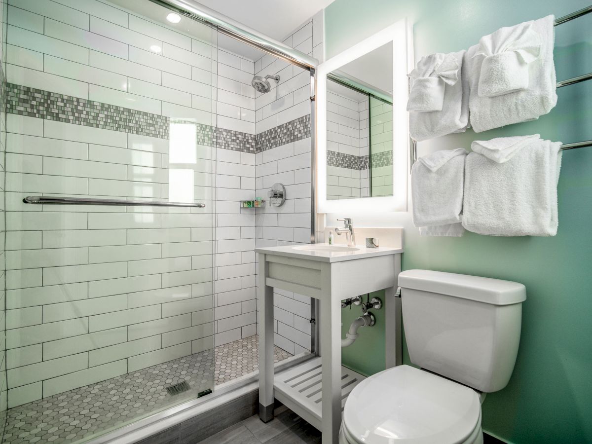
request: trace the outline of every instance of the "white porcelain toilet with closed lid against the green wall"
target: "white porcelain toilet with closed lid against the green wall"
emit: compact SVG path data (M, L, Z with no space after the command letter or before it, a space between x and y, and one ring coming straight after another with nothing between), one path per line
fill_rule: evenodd
M522 284L401 272L411 362L366 378L343 410L340 443L482 443L481 402L506 387L520 342Z

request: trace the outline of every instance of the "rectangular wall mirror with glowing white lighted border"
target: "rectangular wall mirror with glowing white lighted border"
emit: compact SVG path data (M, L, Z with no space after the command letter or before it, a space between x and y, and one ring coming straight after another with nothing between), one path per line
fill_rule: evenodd
M409 137L405 20L318 67L318 208L406 211Z

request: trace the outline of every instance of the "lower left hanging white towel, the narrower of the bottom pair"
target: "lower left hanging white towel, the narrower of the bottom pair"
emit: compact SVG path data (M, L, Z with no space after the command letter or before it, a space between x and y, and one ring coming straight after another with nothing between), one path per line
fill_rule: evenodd
M466 150L420 157L411 169L413 223L420 233L462 236L460 226ZM453 227L450 225L453 224Z

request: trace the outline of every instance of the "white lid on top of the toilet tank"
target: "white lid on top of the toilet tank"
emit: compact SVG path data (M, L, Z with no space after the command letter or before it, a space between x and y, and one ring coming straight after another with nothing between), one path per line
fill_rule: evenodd
M429 291L492 305L517 304L526 300L526 287L518 282L442 271L402 271L398 285L403 289Z

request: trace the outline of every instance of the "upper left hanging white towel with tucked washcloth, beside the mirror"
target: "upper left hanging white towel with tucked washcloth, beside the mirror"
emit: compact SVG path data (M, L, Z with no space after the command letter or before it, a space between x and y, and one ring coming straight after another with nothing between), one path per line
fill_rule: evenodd
M417 141L432 139L466 130L469 123L469 88L463 66L465 51L449 54L431 54L423 57L417 68L411 71L411 89L407 107L409 112L409 134ZM458 69L456 68L458 66ZM436 81L422 81L422 78ZM437 75L433 75L437 73ZM455 81L456 79L456 81ZM460 79L460 81L459 81ZM426 88L430 84L433 89ZM436 87L439 85L440 90ZM442 91L443 96L438 95ZM437 108L439 99L442 106ZM424 108L423 108L424 107ZM417 111L416 111L417 110ZM421 112L420 112L421 111Z

